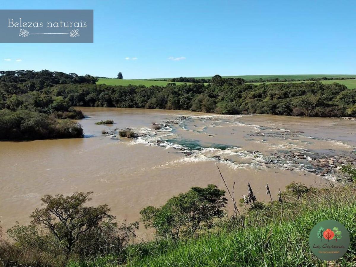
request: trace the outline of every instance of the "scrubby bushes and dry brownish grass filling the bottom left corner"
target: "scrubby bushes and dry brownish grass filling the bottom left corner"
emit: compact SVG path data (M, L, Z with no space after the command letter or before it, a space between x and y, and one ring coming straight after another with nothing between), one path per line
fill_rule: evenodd
M31 214L31 225L7 230L15 243L0 239L0 266L66 266L124 250L136 237L138 222L118 225L108 205L88 206L91 192L45 195Z

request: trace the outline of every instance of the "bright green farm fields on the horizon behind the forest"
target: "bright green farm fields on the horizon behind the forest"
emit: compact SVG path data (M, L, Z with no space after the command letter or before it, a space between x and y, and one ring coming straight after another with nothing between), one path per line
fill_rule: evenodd
M249 76L231 76L231 77L240 77L240 78L244 78L246 80L248 79L258 79L258 78L262 78L262 79L272 79L273 77L276 78L280 78L280 79L308 79L308 78L316 78L316 77L356 77L356 75L249 75ZM226 76L227 77L227 76ZM250 77L250 78L248 78ZM203 77L195 77L195 78L203 78ZM211 77L204 77L204 78L211 78ZM310 83L312 81L306 81L306 83ZM356 79L355 80L323 80L320 81L322 83L327 83L327 84L331 84L331 83L340 83L340 84L344 84L347 86L347 88L349 89L354 89L356 88ZM158 86L166 86L168 83L170 82L163 82L163 81L157 81L157 80L121 80L121 79L104 79L104 78L100 78L97 82L97 84L106 84L106 85L145 85L147 87L150 87L152 85L158 85ZM273 83L273 82L268 82L268 83ZM281 83L300 83L300 82L281 82ZM179 83L176 82L176 84L184 84L184 83ZM207 83L206 83L207 84ZM205 85L206 85L205 84ZM253 83L253 84L261 84L261 83Z

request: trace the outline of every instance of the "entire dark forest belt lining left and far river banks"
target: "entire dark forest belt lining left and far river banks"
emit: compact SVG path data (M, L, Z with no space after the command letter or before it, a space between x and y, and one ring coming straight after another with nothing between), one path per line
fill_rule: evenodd
M83 130L80 131L79 124L58 122L58 119L84 117L73 106L220 114L356 116L356 89L347 89L338 83L254 85L241 78L221 78L220 75L215 75L208 85L109 86L97 85L96 81L97 78L91 75L48 70L0 72L0 139L80 137ZM32 133L24 134L28 131Z

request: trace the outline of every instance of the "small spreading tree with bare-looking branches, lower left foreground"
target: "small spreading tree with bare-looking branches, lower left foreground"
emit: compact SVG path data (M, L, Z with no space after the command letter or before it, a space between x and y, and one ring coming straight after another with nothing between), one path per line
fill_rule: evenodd
M112 219L107 204L85 206L93 192L76 192L73 195L45 195L41 198L44 208L36 208L31 214L32 223L47 228L60 242L64 242L67 255L79 238L92 231L105 219Z

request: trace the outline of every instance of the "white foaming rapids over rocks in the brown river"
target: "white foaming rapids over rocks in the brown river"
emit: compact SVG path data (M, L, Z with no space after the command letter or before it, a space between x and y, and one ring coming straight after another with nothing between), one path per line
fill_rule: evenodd
M178 116L175 120L160 122L159 130L130 128L129 130L135 132L130 145L146 144L174 148L182 154L181 159L167 164L216 161L227 164L231 168L256 168L261 171L266 168L279 168L293 172L310 172L331 180L338 179L337 172L342 164L356 163L355 151L328 149L328 143L351 147L343 142L304 135L302 130L247 124L239 120L243 116ZM231 129L231 126L234 128ZM236 127L238 130L235 129ZM212 130L218 128L221 130ZM110 129L106 134L113 139L121 139L120 130L122 129ZM243 136L241 131L244 132ZM230 135L228 138L225 140L218 138L222 142L214 140L214 137L219 135L226 136L227 132ZM261 151L246 150L246 146L236 146L234 135L239 135L237 139L245 138L254 144L260 144ZM213 140L206 141L206 136L212 137ZM319 144L325 142L324 148L312 150L299 146L303 143L310 144L311 142L308 141L310 138Z

